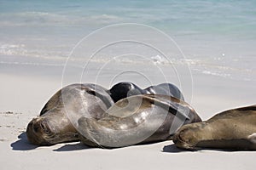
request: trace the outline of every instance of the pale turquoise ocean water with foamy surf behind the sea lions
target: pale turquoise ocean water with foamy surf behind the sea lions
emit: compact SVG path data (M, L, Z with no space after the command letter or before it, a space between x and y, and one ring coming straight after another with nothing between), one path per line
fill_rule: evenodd
M0 0L0 71L77 67L116 72L114 81L147 79L138 68L157 77L185 67L255 83L255 8L254 0Z

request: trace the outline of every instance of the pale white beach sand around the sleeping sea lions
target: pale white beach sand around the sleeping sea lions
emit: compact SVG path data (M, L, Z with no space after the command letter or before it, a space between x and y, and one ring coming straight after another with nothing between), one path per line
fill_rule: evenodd
M36 75L37 76L37 75ZM177 150L172 141L115 150L83 144L37 147L26 141L26 125L38 116L49 97L61 88L61 78L0 74L1 169L255 169L256 152ZM218 111L255 104L256 86L193 72L191 105L206 120ZM184 94L186 96L186 94ZM7 112L11 111L11 112ZM22 134L23 133L23 134ZM21 135L20 135L21 134ZM18 136L20 135L20 139Z

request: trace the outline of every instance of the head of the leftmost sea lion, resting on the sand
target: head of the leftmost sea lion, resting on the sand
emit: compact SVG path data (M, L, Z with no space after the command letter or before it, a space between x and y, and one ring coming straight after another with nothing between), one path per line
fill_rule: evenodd
M37 145L52 145L79 139L76 129L63 114L45 114L33 118L26 127L29 142Z

